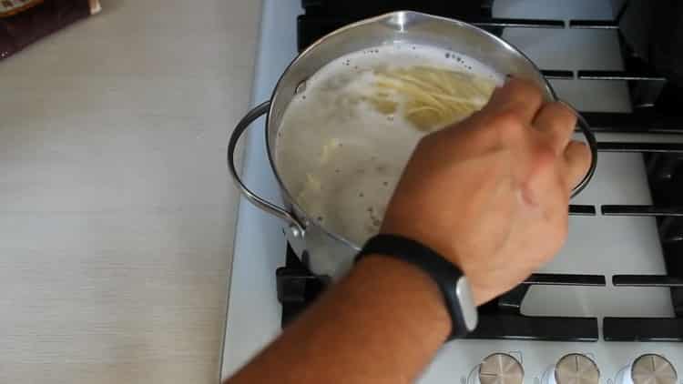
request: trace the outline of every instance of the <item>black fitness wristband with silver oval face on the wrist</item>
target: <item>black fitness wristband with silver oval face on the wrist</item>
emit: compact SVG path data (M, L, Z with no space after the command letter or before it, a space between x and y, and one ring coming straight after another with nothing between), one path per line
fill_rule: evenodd
M401 259L422 269L433 279L443 294L445 306L451 316L449 340L464 338L476 328L477 310L472 289L463 271L452 262L420 242L396 235L372 237L356 256L356 262L372 255Z

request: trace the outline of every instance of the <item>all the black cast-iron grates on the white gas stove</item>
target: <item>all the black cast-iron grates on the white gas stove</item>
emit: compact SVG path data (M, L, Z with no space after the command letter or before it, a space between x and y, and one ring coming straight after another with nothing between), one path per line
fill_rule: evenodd
M341 5L345 3L346 5ZM405 4L404 4L405 3ZM582 112L597 132L618 133L683 133L683 111L675 101L683 90L658 76L646 62L638 58L619 31L615 20L530 20L492 17L494 0L443 2L439 0L379 1L362 0L335 2L334 0L302 0L306 10L298 23L299 49L341 27L370 15L398 9L413 9L448 17L460 18L481 26L496 35L505 28L591 28L611 29L619 33L619 47L624 57L623 71L582 69L543 70L546 77L558 80L626 81L632 101L630 113ZM445 6L433 12L433 7ZM406 6L409 4L411 6ZM372 8L372 5L375 8ZM463 6L466 5L466 6ZM473 6L475 5L475 6ZM339 8L342 6L342 8ZM352 6L352 11L349 11ZM432 8L430 8L432 7ZM359 12L359 9L364 9ZM373 13L372 13L373 12ZM630 152L643 155L647 178L654 204L651 206L603 205L603 216L657 217L658 231L668 271L667 276L619 275L612 277L615 287L665 287L671 291L674 318L604 318L603 339L606 341L683 341L683 144L647 142L598 142L600 152ZM596 216L596 206L570 206L572 216ZM318 278L287 249L287 264L277 271L278 298L282 303L282 326L317 298L328 279ZM534 285L569 285L604 287L604 276L535 274L510 292L484 304L480 308L480 323L469 336L471 339L537 339L566 341L596 341L597 318L530 317L520 308L525 294Z

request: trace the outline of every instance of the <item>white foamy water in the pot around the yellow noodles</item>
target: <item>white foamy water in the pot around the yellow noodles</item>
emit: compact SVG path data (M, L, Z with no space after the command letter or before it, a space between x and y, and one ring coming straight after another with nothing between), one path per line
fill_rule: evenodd
M290 195L333 233L362 245L379 230L413 148L425 135L397 110L377 111L362 96L375 70L431 66L493 79L477 60L425 45L382 45L332 61L306 81L282 117L276 165Z

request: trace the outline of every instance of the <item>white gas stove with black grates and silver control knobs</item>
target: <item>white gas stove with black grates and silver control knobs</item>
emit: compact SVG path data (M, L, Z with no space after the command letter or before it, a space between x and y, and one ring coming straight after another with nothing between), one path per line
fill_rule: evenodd
M348 9L340 16L328 3L264 1L252 104L270 97L301 48L368 16ZM480 308L474 333L446 343L421 382L683 384L683 116L669 107L668 79L619 32L624 2L488 0L457 13L439 8L454 2L420 3L435 8L413 9L464 19L520 48L586 116L599 148L596 176L572 200L566 247ZM277 201L262 131L253 131L243 177ZM291 252L277 219L240 204L222 376L274 339L325 285Z

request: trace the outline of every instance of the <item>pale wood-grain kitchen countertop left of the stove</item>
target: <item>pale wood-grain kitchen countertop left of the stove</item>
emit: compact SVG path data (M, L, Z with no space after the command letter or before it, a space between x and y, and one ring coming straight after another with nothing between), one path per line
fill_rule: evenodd
M260 2L102 6L0 61L0 382L215 383Z

